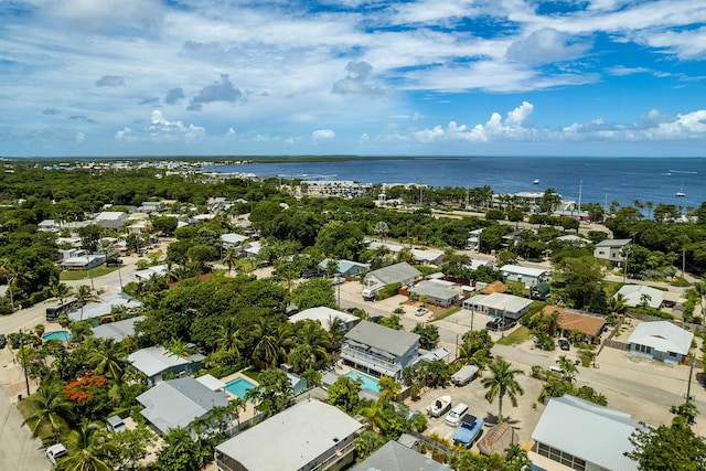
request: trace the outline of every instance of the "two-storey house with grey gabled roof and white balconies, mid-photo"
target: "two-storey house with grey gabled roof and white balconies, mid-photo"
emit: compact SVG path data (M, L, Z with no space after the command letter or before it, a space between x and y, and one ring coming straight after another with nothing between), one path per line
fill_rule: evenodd
M402 371L418 356L419 335L370 321L359 322L341 346L344 364L374 376L402 379Z

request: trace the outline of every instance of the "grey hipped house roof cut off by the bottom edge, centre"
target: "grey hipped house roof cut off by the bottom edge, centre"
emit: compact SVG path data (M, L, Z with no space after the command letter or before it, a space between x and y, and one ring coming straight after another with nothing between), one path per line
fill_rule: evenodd
M448 471L446 464L434 461L426 454L411 450L396 440L391 440L382 448L357 463L351 471Z

